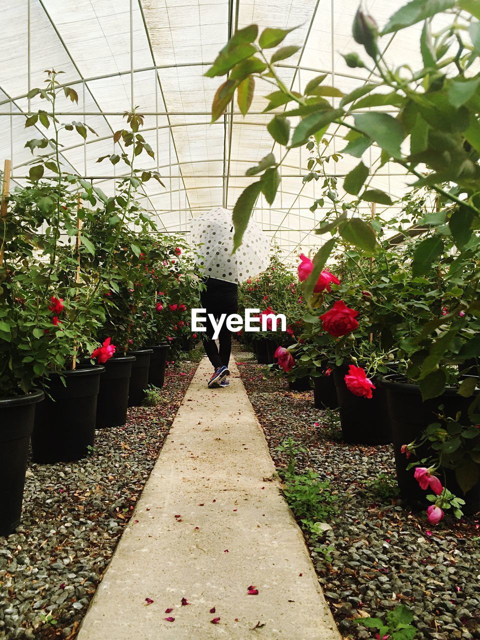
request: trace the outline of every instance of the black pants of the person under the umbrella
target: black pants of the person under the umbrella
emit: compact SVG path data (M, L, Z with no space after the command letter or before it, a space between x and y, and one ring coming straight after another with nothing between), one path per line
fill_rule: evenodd
M218 334L218 344L216 345L213 339L214 327L209 320L208 314L212 314L216 321L220 318L221 314L236 314L238 311L238 295L236 292L231 292L224 295L209 295L208 290L202 293L202 307L207 310L207 322L206 322L206 337L204 337L204 349L210 362L218 369L224 365L228 367L230 360L230 353L232 352L232 333L228 331L225 318L224 323L221 326L220 333ZM205 336L204 333L204 336Z

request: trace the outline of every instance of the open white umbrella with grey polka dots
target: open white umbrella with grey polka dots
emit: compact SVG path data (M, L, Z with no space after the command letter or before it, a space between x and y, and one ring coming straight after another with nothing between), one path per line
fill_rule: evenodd
M253 220L248 223L241 246L232 255L232 212L223 207L191 220L191 243L200 254L197 263L204 269L204 275L218 280L244 282L269 264L269 238Z

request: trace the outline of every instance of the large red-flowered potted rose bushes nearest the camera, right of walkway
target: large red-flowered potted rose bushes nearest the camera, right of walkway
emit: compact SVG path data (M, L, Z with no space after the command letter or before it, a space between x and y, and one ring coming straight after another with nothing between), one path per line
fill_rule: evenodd
M442 28L436 22L438 13ZM397 469L407 463L410 471L416 467L408 476L410 488L406 479L399 477L399 483L405 494L417 484L422 491L431 488L426 499L432 503L428 511L432 522L440 520L447 508L460 515L463 497L470 503L468 511L479 508L474 497L480 478L475 362L480 357L480 89L474 64L479 18L475 3L410 2L397 8L380 28L360 6L352 35L364 54L342 55L349 68L366 69L369 81L345 92L341 82L327 86L326 74L309 79L298 92L285 85L278 61L291 57L296 47L282 46L273 54L269 50L281 45L290 29L267 27L260 32L257 25L241 29L205 74L232 72L238 79L236 83L227 79L216 92L214 119L228 108L240 85L253 86L253 79L275 86L266 97L266 111L287 105L266 128L287 150L307 147L311 157L303 180L318 180L323 186L312 211L323 211L316 232L324 241L312 264L307 263L310 275L303 285L310 308L306 318L311 325L310 346L320 356L326 353L335 367L348 365L340 372L331 367L340 395L345 384L350 397L368 406L386 402ZM413 25L421 26L416 69L397 66L381 54L393 33ZM393 115L388 112L392 108ZM329 150L330 124L337 140L344 136L340 153ZM373 145L380 148L380 158L371 166L368 152ZM355 166L337 184L326 167L343 156L352 158ZM252 214L253 196L268 191L270 200L275 198L282 161L269 154L248 170L255 182L246 186L234 208L237 246ZM405 216L405 223L399 220L396 235L407 242L394 252L393 265L390 253L397 239L383 242L385 225L375 215L376 205L393 204L375 184L377 170L387 163L406 172L412 192L406 203L410 212L423 198L423 192L415 189L428 188L435 196L435 207L422 212L417 221L410 216ZM271 184L275 189L269 188ZM372 216L365 214L365 205ZM339 250L340 259L335 255ZM339 289L331 298L314 292L329 259L338 271L333 266L328 270L340 281L333 285ZM290 369L292 353L278 355ZM308 362L310 352L299 353L300 362L302 357ZM378 409L371 413L380 419ZM342 421L347 417L341 410L340 415ZM397 435L407 424L410 433ZM440 483L435 480L438 476ZM456 483L463 497L456 498L449 490L456 490Z

